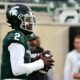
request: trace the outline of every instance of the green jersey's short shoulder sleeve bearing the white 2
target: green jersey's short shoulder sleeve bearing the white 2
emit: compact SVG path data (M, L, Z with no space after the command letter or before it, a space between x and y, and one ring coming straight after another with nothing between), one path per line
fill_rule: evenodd
M11 43L20 43L25 45L25 35L19 31L11 31L7 34L6 38L4 39L4 43L9 45Z

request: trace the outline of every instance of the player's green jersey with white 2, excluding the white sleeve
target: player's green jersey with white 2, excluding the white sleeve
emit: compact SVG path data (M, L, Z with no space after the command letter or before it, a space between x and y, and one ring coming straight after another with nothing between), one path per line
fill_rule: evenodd
M25 48L24 63L29 63L31 59L27 37L21 31L18 31L18 30L13 30L8 32L8 34L5 36L3 40L1 78L2 79L6 79L6 78L7 79L9 78L27 79L26 74L23 74L20 76L14 76L12 73L11 63L10 63L10 53L8 51L8 47L11 43L19 43L24 46Z

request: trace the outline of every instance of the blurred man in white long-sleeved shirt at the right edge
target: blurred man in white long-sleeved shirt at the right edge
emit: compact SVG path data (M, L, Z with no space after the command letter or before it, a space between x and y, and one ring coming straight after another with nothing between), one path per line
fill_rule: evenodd
M74 37L74 49L66 56L64 66L64 80L73 80L73 73L76 70L75 65L80 62L80 34Z

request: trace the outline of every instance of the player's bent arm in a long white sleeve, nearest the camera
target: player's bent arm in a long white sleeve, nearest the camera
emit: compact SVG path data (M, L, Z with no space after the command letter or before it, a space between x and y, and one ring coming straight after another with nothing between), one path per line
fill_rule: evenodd
M33 71L44 68L44 63L41 59L33 63L24 63L25 48L23 45L11 43L8 50L10 52L12 72L15 76L30 74Z

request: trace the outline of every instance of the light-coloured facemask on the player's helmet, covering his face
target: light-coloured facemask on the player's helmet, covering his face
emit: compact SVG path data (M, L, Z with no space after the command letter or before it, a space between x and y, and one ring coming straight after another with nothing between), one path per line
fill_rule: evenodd
M20 28L32 32L33 27L35 25L35 16L32 14L32 12L29 12L29 14L20 14L18 18L21 20Z

